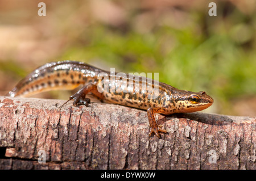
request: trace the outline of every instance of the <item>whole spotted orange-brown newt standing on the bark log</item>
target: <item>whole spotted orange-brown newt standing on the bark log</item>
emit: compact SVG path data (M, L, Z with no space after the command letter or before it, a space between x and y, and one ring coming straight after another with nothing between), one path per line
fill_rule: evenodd
M107 77L99 78L102 73L105 73ZM79 91L69 97L69 100L74 100L73 106L88 106L90 99L86 98L86 94L91 92L102 102L146 110L150 124L149 136L155 133L158 138L160 138L160 132L166 133L166 130L156 123L155 113L170 115L195 112L204 110L213 104L213 99L205 91L179 90L166 83L154 81L154 79L125 75L123 77L118 74L112 75L109 71L95 68L84 62L68 60L49 62L23 78L13 90L9 91L7 96L26 97L49 90L73 90L83 85ZM114 81L111 81L113 76ZM139 85L139 87L134 85ZM147 89L143 89L143 85L146 85ZM110 90L114 87L115 91L104 91L106 87L110 87ZM155 92L148 87L158 90L156 98L152 97L156 95Z

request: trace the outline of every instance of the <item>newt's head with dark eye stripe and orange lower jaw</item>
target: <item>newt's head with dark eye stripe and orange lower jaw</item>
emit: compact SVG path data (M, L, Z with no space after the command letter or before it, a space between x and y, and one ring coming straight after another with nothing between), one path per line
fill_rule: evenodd
M213 99L204 91L181 91L173 95L176 113L201 111L213 104Z

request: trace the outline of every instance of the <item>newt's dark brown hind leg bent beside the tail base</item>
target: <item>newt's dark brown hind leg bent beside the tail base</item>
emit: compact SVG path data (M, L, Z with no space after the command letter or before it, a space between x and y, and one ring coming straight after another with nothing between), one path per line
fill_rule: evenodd
M98 87L93 83L88 83L84 87L82 87L79 91L77 91L74 95L70 96L69 100L74 99L74 102L73 102L74 106L85 105L87 107L88 104L90 103L90 99L85 98L85 96L89 92L92 92L94 95L96 95L100 99L104 99L103 94L101 92L98 92ZM67 102L69 102L69 100ZM65 102L64 104L66 104L67 102ZM64 104L61 107L63 107Z

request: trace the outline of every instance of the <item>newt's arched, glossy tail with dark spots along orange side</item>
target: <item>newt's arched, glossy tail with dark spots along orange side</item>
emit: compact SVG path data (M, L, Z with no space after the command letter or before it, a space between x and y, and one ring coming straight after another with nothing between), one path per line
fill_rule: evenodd
M101 69L76 61L50 62L23 78L7 96L30 96L49 90L72 90L97 81Z

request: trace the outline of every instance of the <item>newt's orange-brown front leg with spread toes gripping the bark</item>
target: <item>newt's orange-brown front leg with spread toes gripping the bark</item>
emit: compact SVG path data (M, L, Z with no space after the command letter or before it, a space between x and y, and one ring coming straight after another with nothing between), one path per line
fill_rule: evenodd
M154 113L160 113L160 112L158 112L156 108L148 108L148 110L147 110L147 117L148 117L148 121L150 123L150 133L149 133L149 136L151 136L152 133L155 133L155 135L158 138L160 138L159 132L166 133L166 130L159 128L158 124L155 121Z

